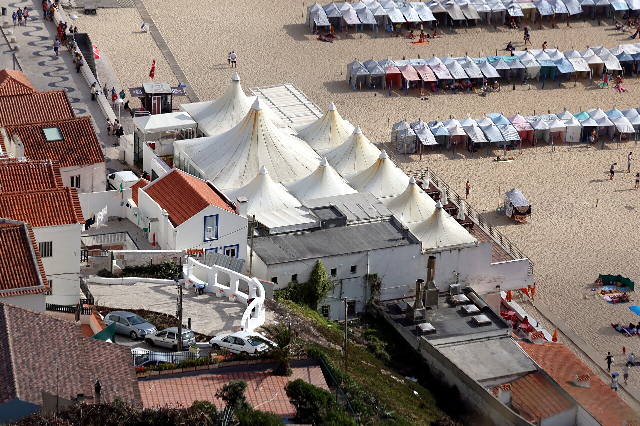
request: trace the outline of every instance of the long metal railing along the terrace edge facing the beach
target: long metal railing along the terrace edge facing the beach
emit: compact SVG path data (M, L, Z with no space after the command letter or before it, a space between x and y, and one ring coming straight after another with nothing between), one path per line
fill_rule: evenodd
M447 182L442 180L442 178L440 178L438 173L431 170L431 168L427 167L421 170L410 170L410 171L405 171L404 173L406 173L409 177L414 177L416 180L422 180L424 182L426 171L429 172L429 181L432 182L438 188L446 187L447 198L449 198L449 201L453 201L454 203L456 203L456 205L458 205L458 207L460 207L460 203L462 200L464 200L464 198L462 198L458 193L456 193L456 191L454 191L454 189L452 189L452 187L449 186ZM428 182L425 182L425 184L427 183ZM497 230L495 226L488 223L488 221L486 221L482 217L481 213L478 210L474 209L474 207L470 205L470 203L468 203L466 200L465 200L465 214L472 221L474 221L476 226L479 226L487 235L489 235L489 237L493 240L493 242L495 242L495 244L498 244L500 247L502 247L504 251L509 253L509 255L511 255L514 259L527 259L529 261L529 274L533 274L534 263L531 260L531 258L525 255L522 252L522 250L517 248L516 245L513 244L513 242L504 235L504 233L500 232L499 230Z

